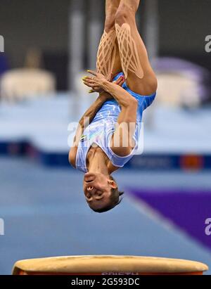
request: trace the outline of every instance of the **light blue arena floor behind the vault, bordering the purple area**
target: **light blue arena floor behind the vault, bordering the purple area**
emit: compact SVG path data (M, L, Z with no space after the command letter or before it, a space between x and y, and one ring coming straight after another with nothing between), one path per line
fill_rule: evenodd
M209 250L127 194L134 185L210 188L210 172L117 172L125 197L103 214L92 212L84 202L82 174L71 169L0 158L0 172L0 218L5 221L0 274L11 274L18 259L58 255L174 257L205 262L211 268Z

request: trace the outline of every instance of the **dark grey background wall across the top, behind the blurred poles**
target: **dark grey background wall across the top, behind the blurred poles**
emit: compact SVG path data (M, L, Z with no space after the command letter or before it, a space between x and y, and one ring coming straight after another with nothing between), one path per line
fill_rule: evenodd
M71 0L1 0L0 34L11 67L23 65L27 49L44 51L45 65L58 70L58 77L68 63L68 10ZM146 0L147 1L147 0ZM181 56L211 67L211 55L205 53L205 36L211 34L210 0L158 0L160 16L160 54ZM103 4L102 22L104 19ZM84 0L89 12L89 0ZM143 9L142 9L143 8ZM141 1L138 18L144 1ZM153 15L152 15L153 17ZM88 20L89 18L87 18ZM86 51L84 51L86 59ZM65 68L65 70L64 70ZM63 83L62 83L63 82ZM60 89L65 79L60 79Z

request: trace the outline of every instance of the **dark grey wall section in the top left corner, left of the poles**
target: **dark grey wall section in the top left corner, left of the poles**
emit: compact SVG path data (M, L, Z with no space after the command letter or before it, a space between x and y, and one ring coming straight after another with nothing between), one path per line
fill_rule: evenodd
M68 46L70 0L1 0L0 34L14 66L23 65L25 52L36 46L63 51Z

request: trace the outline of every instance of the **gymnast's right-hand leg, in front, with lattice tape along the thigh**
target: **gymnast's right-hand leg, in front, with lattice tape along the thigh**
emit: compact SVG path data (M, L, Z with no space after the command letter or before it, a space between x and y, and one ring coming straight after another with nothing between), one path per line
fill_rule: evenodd
M157 79L136 27L135 15L139 3L140 0L120 0L120 6L115 15L115 30L122 70L129 89L137 94L149 95L156 91Z

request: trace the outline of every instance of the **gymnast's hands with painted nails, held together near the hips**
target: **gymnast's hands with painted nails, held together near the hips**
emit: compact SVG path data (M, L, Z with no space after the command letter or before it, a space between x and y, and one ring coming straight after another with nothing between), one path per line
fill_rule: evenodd
M89 72L91 75L94 75L94 77L84 77L83 82L85 85L91 87L91 90L89 91L89 93L93 93L93 92L98 92L98 93L102 93L103 90L103 84L105 82L112 82L113 81L113 77L114 75L111 73L110 77L106 78L104 75L102 75L101 73L97 73L94 72L92 70L87 70L87 72ZM122 84L124 83L124 76L119 77L114 83L122 86Z

